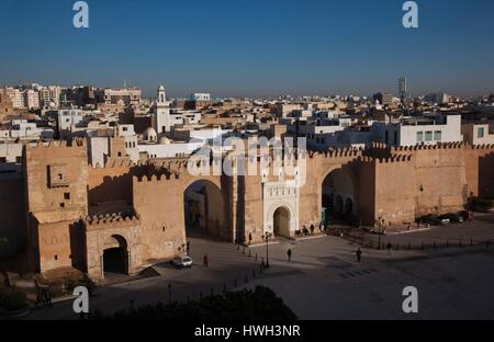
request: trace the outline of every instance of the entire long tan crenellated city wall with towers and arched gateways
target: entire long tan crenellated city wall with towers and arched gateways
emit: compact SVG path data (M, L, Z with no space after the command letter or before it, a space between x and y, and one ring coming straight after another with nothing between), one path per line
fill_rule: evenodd
M198 162L194 160L172 158L149 160L147 164L112 160L104 168L92 168L88 166L83 141L75 140L72 146L64 142L26 146L24 221L30 242L29 264L42 272L78 266L97 276L101 273L99 259L103 248L114 236L127 243L130 272L148 260L172 258L183 250L187 241L184 192L195 181L206 184L212 208L207 217L210 232L232 242L237 237L248 241L249 233L254 242L262 240L263 184L268 183L278 186L277 182L302 178L305 183L296 190L297 208L293 210L299 220L291 226L317 226L323 182L336 170L350 180L353 213L364 225L373 225L379 217L392 224L413 221L417 215L461 209L470 194L494 195L494 146L373 145L366 151L338 149L306 152L300 158L305 168L299 170L303 174L295 176L273 174L272 169L265 175L260 166L257 175L192 175L187 167ZM294 163L295 159L288 162ZM272 163L270 158L269 166ZM203 167L213 166L205 162ZM293 193L287 194L293 202ZM0 204L5 204L3 210L9 208L8 198L0 196ZM12 204L13 212L18 202ZM87 218L88 203L116 207L120 202L135 212L135 217L127 220L116 214ZM14 220L9 225L14 225Z

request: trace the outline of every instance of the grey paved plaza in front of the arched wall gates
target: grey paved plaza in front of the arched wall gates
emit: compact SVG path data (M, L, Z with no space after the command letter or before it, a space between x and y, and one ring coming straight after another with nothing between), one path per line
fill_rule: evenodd
M471 232L494 237L492 216L472 224ZM416 232L420 238L444 233L441 227ZM469 226L457 226L468 236ZM400 239L417 239L414 233ZM292 261L287 258L292 250ZM191 270L176 270L157 263L159 276L101 287L90 300L91 310L111 314L134 305L198 299L224 287L266 285L281 296L301 319L494 319L494 247L450 247L436 250L378 251L363 249L356 260L357 244L338 237L302 241L282 240L269 246L269 270L259 274L266 246L249 249L191 239ZM209 255L209 267L202 258ZM258 255L256 261L255 255ZM255 277L254 277L255 275ZM246 283L247 281L247 283ZM402 310L405 286L418 289L419 314ZM77 318L71 301L52 309L34 310L27 319Z

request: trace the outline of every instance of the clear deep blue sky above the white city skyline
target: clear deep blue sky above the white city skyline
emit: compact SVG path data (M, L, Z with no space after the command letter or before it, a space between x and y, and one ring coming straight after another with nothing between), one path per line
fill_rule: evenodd
M87 30L72 0L2 0L0 86L141 87L151 95L494 91L494 1L88 0Z

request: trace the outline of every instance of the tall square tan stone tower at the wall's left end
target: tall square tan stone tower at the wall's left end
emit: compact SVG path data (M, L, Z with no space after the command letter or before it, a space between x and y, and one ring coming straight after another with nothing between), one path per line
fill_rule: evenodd
M35 270L80 264L78 225L88 214L88 161L83 140L27 145L24 150L29 244Z

